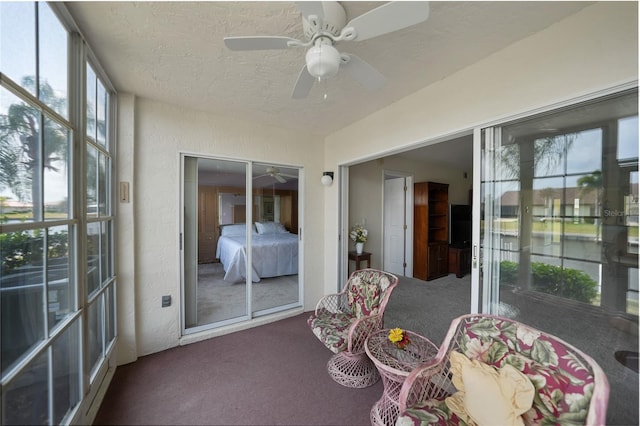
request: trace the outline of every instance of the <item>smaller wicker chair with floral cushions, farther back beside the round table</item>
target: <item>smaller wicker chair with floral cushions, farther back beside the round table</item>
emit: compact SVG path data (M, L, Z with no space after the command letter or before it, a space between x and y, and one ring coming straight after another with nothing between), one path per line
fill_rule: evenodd
M334 355L327 363L333 380L350 388L365 388L380 380L364 349L369 335L383 327L384 309L398 278L375 269L361 269L349 277L340 293L318 302L307 323Z

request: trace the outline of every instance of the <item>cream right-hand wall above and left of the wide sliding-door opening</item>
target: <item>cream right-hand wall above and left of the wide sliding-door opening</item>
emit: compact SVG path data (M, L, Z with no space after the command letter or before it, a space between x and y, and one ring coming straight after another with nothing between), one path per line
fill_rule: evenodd
M637 2L596 3L328 136L325 169L637 79ZM325 193L326 277L337 274L339 185Z

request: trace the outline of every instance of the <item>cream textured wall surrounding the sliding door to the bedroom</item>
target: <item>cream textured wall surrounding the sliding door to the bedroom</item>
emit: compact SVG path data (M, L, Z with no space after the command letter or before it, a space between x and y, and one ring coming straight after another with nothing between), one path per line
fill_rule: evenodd
M221 156L277 162L304 167L305 208L300 210L303 232L305 293L304 306L312 309L322 293L322 232L320 184L322 175L322 139L306 132L291 132L253 123L219 117L200 111L163 104L143 98L132 101L122 96L123 106L135 103L135 120L127 108L121 108L119 151L133 152L135 193L133 208L119 210L119 222L135 223L119 231L119 241L131 239L135 253L135 275L131 262L118 269L121 321L120 347L137 347L137 356L158 352L180 343L180 265L179 230L179 153ZM133 126L133 129L131 128ZM126 162L126 158L124 159ZM126 168L126 167L125 167ZM123 171L123 173L126 170ZM122 180L120 177L119 180ZM126 234L125 234L126 233ZM125 242L125 248L128 243ZM161 297L170 295L170 307L161 307ZM135 297L135 303L131 298ZM135 315L135 321L132 316ZM135 360L130 351L119 363Z

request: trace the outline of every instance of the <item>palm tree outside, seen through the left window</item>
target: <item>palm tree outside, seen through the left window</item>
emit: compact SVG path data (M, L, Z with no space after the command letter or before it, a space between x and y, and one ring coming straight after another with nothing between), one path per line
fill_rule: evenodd
M35 93L34 77L24 77L22 87ZM52 87L39 84L40 99L54 110L66 104ZM42 212L41 173L58 172L58 162L66 162L69 150L67 131L39 109L19 102L0 114L0 190L8 189L21 201L32 202L33 217Z

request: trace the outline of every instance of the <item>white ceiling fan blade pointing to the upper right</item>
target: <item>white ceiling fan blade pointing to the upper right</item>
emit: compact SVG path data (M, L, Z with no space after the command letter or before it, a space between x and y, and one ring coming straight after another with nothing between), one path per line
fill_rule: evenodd
M355 37L347 36L347 39L362 41L419 24L428 18L429 2L393 1L352 19L343 33L347 34L351 28Z

